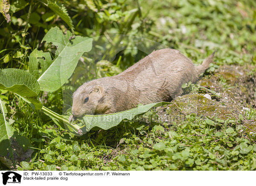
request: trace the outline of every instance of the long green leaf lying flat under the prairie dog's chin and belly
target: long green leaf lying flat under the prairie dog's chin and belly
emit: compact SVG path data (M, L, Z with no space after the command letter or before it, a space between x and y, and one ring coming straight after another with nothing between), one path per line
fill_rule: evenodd
M75 126L78 125L80 130L76 135L86 134L94 127L102 128L104 130L108 130L125 119L131 120L135 116L143 114L147 112L152 107L159 107L162 105L168 105L169 102L158 102L158 103L151 103L148 105L142 105L137 108L133 108L130 110L125 110L118 113L111 113L105 115L85 115L82 119L78 119L78 123L74 124ZM80 122L80 123L79 123ZM68 124L65 122L64 125ZM76 127L78 128L78 127Z

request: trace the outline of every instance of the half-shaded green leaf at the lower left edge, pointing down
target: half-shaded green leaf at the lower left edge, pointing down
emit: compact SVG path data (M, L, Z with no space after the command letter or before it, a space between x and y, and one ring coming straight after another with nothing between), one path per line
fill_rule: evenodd
M16 149L15 153L20 157L23 154L19 154L19 152L25 152L32 145L26 137L18 134L11 126L10 121L7 121L5 103L0 99L0 161L6 166L11 166L9 162L14 160L14 149ZM20 149L23 149L23 151L20 151Z

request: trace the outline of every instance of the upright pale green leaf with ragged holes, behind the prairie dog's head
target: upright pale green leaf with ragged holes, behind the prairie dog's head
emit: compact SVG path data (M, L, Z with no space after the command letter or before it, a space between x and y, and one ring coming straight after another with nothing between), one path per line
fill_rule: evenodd
M58 28L50 29L42 41L57 46L55 59L52 61L49 52L35 49L29 56L29 72L38 79L40 89L53 92L58 90L76 68L81 55L92 48L92 39L76 36L72 38L71 32L64 35ZM41 64L39 74L38 62Z

